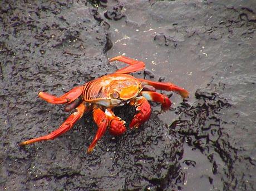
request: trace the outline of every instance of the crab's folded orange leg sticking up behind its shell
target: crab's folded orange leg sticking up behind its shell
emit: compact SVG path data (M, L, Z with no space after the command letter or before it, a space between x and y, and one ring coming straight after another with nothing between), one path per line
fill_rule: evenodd
M136 61L134 59L124 57L124 56L117 56L109 60L109 62L113 62L113 61L120 61L130 65L130 66L119 69L118 71L115 72L115 74L129 74L131 72L141 71L142 69L145 68L144 62Z

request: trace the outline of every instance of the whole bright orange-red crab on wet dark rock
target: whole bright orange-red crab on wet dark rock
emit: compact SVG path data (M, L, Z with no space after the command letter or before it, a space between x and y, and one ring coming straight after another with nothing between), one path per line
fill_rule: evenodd
M136 113L131 120L129 127L138 128L151 114L151 106L148 101L158 102L162 110L168 110L171 106L170 99L156 92L156 89L164 91L174 91L186 98L189 92L172 83L153 82L146 79L135 78L129 73L141 71L145 68L145 63L134 59L117 56L109 62L120 61L129 66L119 69L115 73L102 76L78 86L60 97L40 92L38 96L48 103L66 104L65 111L70 112L75 109L65 122L52 133L42 137L26 140L20 145L27 145L42 140L55 139L59 135L70 130L73 125L85 114L91 112L93 120L97 124L97 132L89 145L87 152L91 153L99 139L104 135L106 129L113 135L121 135L126 132L125 121L117 117L112 108L124 104L136 107Z

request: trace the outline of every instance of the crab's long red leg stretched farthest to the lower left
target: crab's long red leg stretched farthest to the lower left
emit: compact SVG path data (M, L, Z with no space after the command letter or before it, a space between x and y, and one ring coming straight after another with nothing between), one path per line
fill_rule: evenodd
M87 107L85 106L84 103L81 103L80 105L78 105L76 110L77 110L76 112L72 113L70 117L68 117L65 120L65 122L58 129L54 130L52 133L42 137L35 138L35 139L26 140L20 143L19 145L26 145L26 144L35 143L42 140L54 139L60 136L61 134L67 132L67 130L70 130L73 127L73 125L77 122L77 120L82 117L83 113L86 112Z

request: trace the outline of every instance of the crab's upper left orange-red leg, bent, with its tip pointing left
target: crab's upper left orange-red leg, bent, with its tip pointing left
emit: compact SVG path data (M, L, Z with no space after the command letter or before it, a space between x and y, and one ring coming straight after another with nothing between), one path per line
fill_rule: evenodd
M82 92L83 92L83 86L78 86L71 89L71 91L63 94L61 97L52 96L51 94L48 94L45 92L39 92L38 96L49 103L63 104L63 103L73 102L76 98L81 96Z

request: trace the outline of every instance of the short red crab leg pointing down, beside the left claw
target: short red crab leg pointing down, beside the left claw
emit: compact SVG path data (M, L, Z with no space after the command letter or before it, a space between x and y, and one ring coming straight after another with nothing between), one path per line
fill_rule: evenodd
M93 108L93 120L98 126L96 135L94 136L92 143L88 147L87 153L91 153L98 140L104 135L107 129L109 120L107 120L106 114L100 108Z

